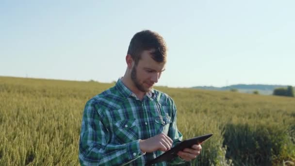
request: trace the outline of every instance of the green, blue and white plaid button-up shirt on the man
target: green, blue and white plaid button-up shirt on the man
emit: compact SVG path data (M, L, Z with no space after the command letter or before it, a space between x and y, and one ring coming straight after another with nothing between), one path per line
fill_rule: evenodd
M87 166L144 166L163 151L143 153L139 140L166 133L173 145L182 140L176 126L176 106L152 89L139 100L119 79L114 87L87 101L82 118L79 159ZM184 162L179 157L169 164ZM166 166L157 163L156 166Z

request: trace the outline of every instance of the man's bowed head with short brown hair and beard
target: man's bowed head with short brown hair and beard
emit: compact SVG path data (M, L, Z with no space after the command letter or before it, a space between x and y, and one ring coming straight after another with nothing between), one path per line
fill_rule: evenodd
M148 92L158 82L166 64L166 51L164 38L158 33L146 30L132 37L126 62L137 90Z

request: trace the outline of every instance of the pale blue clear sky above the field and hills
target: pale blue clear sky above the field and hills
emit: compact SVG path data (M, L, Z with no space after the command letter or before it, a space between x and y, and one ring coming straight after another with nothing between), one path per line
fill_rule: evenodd
M169 87L295 86L294 0L1 0L0 76L111 83L160 33Z

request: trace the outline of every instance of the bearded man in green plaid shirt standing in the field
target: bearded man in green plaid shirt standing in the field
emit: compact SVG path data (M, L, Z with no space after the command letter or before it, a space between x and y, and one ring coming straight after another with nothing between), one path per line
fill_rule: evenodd
M79 147L81 165L144 166L182 140L174 101L152 88L165 69L163 37L148 30L136 33L126 63L125 75L115 86L85 105ZM200 145L184 149L169 164L190 161L200 150Z

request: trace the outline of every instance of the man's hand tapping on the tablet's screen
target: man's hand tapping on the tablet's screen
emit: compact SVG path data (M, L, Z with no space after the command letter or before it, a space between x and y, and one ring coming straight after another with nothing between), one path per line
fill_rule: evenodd
M154 137L140 140L139 147L143 152L153 152L156 150L166 151L169 150L172 146L172 139L165 135L164 133L160 133Z

